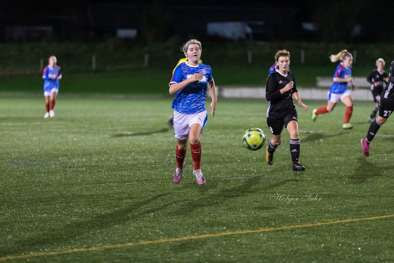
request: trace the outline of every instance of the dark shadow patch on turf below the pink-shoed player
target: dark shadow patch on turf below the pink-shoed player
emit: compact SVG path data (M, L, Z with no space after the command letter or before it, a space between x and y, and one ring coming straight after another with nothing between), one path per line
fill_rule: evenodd
M376 165L366 158L367 157L357 158L357 167L355 167L354 173L349 177L352 183L365 183L368 179L373 177L384 177L385 174L387 175L394 172L393 165Z

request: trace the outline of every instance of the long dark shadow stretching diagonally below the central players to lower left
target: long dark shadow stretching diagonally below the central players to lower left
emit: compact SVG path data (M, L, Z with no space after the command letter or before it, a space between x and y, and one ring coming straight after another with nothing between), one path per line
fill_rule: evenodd
M250 194L255 193L255 186L261 184L261 179L261 176L255 176L243 180L238 185L223 188L216 188L215 185L212 185L213 188L216 188L214 191L212 191L212 187L209 185L197 186L191 183L178 191L152 195L108 213L97 213L86 220L71 222L59 227L49 227L43 232L15 241L7 248L1 248L0 246L0 254L27 252L37 250L46 245L65 246L70 241L78 237L83 237L87 233L95 233L101 229L111 228L114 225L123 225L128 224L128 222L143 220L147 215L153 215L157 212L160 212L164 217L174 215L178 217L193 216L196 210L214 209L214 207L221 207L224 202L234 203L238 202L239 198L248 197ZM297 180L286 179L277 181L268 184L266 189L281 187L292 181ZM203 200L201 198L202 192ZM179 196L183 196L183 198L179 200ZM176 206L174 205L175 199L178 200ZM263 207L258 209L263 209ZM212 224L212 226L216 226L217 221L213 220Z

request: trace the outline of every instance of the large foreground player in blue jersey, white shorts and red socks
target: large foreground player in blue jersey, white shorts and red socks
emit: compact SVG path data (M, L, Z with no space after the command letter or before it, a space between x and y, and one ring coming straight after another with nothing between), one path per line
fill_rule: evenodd
M174 183L179 183L182 179L188 140L190 141L191 158L194 165L193 174L199 185L205 183L205 177L200 167L200 135L208 119L205 109L207 87L210 89L212 97L212 103L210 104L212 117L215 115L217 99L211 67L199 63L201 50L201 43L196 39L190 39L183 45L182 51L188 58L188 63L183 62L178 65L169 83L169 93L175 93L172 104L174 131L177 138L175 150L177 169L173 174Z

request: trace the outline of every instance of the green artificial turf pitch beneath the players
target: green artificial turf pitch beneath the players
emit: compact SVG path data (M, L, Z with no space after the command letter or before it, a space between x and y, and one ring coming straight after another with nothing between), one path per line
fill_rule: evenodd
M300 162L289 136L265 162L242 134L265 122L266 101L225 100L201 137L206 185L175 170L168 99L0 99L0 261L392 262L393 127L361 152L373 103L313 123L304 101ZM207 104L209 106L209 104ZM310 198L308 198L310 196ZM308 200L309 199L309 200Z

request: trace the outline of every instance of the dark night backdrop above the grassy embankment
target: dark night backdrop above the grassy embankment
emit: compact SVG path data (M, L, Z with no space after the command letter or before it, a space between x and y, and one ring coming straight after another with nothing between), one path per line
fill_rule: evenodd
M191 32L206 37L206 23L262 21L256 40L391 43L394 1L2 1L0 42L42 41L15 37L10 29L47 26L50 41L100 41L118 28L138 30L136 41L167 41ZM304 30L302 23L316 30Z

